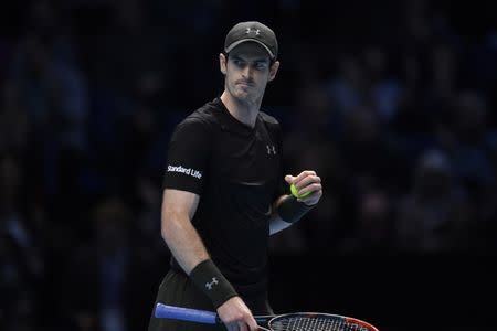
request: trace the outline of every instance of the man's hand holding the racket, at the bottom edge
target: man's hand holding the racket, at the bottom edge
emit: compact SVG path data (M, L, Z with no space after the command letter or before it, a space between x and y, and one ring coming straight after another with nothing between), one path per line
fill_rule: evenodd
M251 310L240 297L232 297L218 308L218 314L229 331L257 331Z

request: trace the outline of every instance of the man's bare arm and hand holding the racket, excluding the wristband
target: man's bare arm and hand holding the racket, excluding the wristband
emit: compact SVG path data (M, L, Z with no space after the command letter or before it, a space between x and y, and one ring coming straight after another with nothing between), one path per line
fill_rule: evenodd
M166 189L161 211L162 238L181 268L190 277L195 274L195 278L202 276L197 276L195 271L199 268L204 268L205 265L215 267L210 261L209 253L200 235L191 224L199 200L198 194ZM231 297L216 308L228 330L258 330L252 312L239 296Z

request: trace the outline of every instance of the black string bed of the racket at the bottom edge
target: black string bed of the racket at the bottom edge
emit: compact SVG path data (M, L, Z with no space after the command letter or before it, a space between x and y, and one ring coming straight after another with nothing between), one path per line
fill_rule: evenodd
M271 323L273 331L368 331L359 324L351 324L341 319L293 317L275 320Z

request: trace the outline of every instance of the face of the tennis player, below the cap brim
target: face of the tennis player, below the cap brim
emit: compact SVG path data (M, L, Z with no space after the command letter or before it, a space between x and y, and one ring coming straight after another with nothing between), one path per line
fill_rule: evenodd
M233 49L228 60L220 55L225 88L242 103L262 99L267 82L276 75L278 63L271 65L267 52L257 43L245 42Z

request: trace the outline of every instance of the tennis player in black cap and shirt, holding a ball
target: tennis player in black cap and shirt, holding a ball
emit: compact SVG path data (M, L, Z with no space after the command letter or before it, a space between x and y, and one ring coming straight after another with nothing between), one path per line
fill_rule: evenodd
M152 314L149 331L257 330L253 314L273 313L268 236L298 221L322 195L315 171L283 175L279 124L260 110L279 66L274 32L241 22L224 46L224 92L181 121L169 143L161 234L172 257L156 299L216 311L224 327ZM286 194L292 183L300 195L310 194Z

